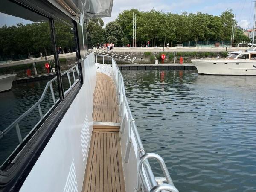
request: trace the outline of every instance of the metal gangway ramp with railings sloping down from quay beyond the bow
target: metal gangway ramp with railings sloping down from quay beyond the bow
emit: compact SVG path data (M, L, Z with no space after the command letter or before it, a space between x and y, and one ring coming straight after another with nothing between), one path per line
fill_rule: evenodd
M132 64L136 64L136 63L134 63L134 61L136 60L136 57L130 57L130 55L123 55L123 54L119 54L118 52L115 52L115 51L97 48L97 47L93 47L93 51L97 55L106 55L106 56L114 58L115 60L125 61L125 62L129 62Z

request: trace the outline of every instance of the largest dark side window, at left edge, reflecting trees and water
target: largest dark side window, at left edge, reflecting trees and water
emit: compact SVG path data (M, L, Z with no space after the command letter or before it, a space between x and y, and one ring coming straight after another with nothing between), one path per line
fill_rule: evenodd
M7 0L0 7L1 166L58 103L59 88L49 18Z

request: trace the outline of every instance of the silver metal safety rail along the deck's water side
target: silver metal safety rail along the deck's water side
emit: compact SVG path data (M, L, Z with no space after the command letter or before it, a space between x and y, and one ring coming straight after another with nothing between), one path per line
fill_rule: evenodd
M124 161L128 163L130 149L131 149L131 131L134 134L136 144L137 144L137 184L135 190L137 192L143 190L143 192L160 192L166 190L169 192L178 192L172 182L172 178L169 175L166 164L163 158L154 153L145 153L143 144L138 133L135 120L131 114L130 107L128 105L128 100L125 95L125 86L123 83L122 74L116 64L114 58L103 55L95 55L96 63L98 57L105 57L107 59L107 64L113 67L113 81L116 84L116 96L119 105L119 116L121 122L120 133L124 134L125 129L127 129L127 141L126 141L126 151L124 155ZM104 58L102 58L102 64L104 64ZM99 63L100 64L100 63ZM148 162L149 158L156 159L160 164L163 174L166 178L168 184L157 184L156 178L152 172L151 166Z

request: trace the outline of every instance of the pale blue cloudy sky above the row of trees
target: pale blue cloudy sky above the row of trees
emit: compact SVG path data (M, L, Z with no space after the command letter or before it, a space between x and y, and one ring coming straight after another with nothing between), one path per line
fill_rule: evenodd
M112 15L103 18L105 24L116 19L119 13L128 9L150 11L152 8L172 13L208 13L221 15L226 9L233 9L238 26L244 29L253 27L253 0L114 0Z

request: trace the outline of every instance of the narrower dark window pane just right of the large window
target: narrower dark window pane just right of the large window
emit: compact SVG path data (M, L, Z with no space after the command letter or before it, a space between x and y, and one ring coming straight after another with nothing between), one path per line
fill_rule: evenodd
M79 81L78 49L74 26L55 20L56 49L61 70L64 97Z

